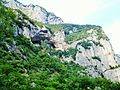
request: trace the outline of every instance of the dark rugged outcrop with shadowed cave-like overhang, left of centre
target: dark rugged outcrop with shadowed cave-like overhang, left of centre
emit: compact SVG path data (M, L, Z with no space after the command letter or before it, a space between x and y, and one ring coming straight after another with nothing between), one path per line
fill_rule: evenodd
M14 26L15 37L22 34L34 44L39 44L41 40L50 40L51 32L45 26L39 27L20 10L14 10L14 12L17 14Z

